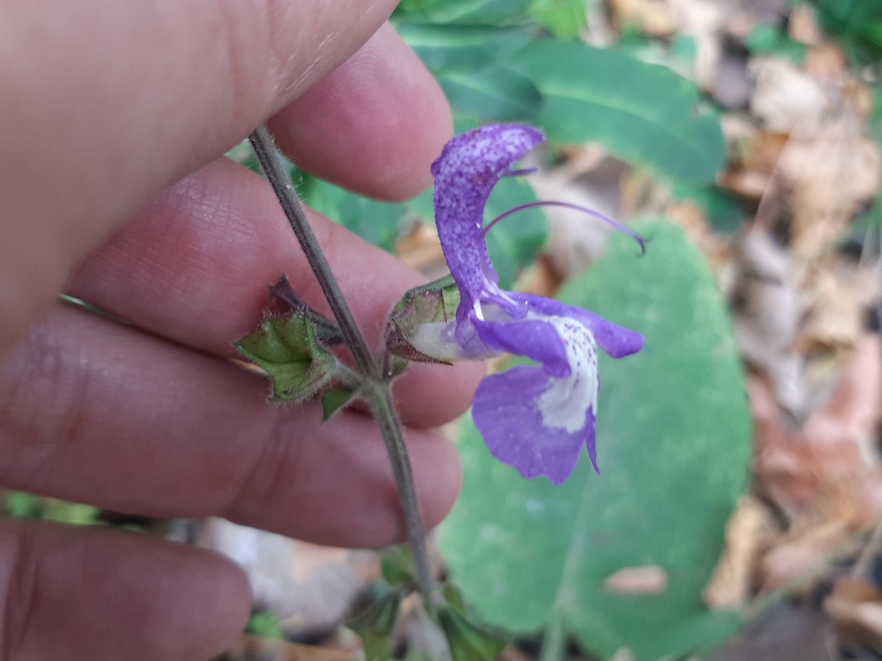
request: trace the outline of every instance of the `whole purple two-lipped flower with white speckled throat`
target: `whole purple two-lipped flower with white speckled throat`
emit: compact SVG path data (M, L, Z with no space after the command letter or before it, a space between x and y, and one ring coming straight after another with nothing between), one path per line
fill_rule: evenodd
M512 166L542 140L527 126L485 126L454 138L432 165L438 236L461 302L455 321L422 326L413 344L441 360L514 353L540 363L485 378L472 414L494 457L525 478L562 484L583 445L597 470L597 345L622 358L639 352L643 337L593 312L499 288L484 205L501 177L523 174Z

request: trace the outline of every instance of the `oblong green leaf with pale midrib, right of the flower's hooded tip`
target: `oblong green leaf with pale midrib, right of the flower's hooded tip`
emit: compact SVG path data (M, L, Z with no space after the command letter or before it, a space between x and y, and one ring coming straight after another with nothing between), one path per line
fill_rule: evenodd
M577 42L534 41L515 56L542 93L541 123L560 143L597 142L626 160L710 182L725 142L698 90L665 67Z

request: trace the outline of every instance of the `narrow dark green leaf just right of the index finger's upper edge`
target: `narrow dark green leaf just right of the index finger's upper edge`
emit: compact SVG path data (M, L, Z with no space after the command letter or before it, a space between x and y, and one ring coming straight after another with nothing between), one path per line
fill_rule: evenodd
M504 63L530 41L522 27L440 26L402 23L401 38L414 49L430 71L473 72Z

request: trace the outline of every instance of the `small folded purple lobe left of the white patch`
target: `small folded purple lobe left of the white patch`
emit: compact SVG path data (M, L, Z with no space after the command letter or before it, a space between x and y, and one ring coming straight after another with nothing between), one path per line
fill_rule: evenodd
M550 323L524 321L511 323L475 321L484 344L500 352L526 356L542 363L550 376L569 376L566 347Z

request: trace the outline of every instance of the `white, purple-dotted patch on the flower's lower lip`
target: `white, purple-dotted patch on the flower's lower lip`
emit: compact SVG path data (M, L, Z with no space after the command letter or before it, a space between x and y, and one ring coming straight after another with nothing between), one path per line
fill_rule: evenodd
M573 434L585 427L588 409L597 411L597 343L586 326L570 317L547 316L542 321L555 327L572 371L564 378L549 378L549 388L536 405L545 427Z

